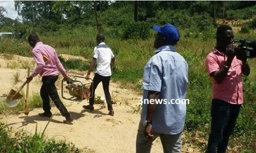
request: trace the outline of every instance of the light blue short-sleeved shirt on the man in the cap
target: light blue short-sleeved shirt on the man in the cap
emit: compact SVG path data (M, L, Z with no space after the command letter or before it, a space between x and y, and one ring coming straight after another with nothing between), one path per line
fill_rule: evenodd
M188 64L175 52L174 46L166 45L155 50L144 68L142 89L143 99L148 91L160 92L160 99L167 104L158 104L152 120L152 130L163 134L179 134L185 124L186 103L174 103L172 99L186 99ZM162 101L164 102L164 101ZM168 104L169 103L169 104ZM178 103L178 101L177 101ZM145 124L147 104L142 104L141 122Z

